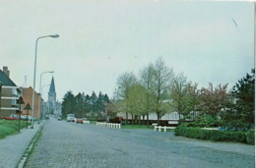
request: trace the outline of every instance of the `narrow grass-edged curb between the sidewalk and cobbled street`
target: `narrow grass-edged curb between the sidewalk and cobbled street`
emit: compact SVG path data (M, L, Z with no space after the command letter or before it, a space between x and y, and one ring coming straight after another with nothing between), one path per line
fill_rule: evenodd
M19 163L16 167L24 168L24 165L25 165L26 161L28 160L29 155L32 151L32 147L33 147L35 141L38 140L39 134L41 133L41 130L43 129L43 126L44 126L44 124L42 126L40 126L40 128L38 129L36 134L33 136L32 141L29 144L29 147L26 149L25 154L23 155L23 157L21 158L21 160L19 161Z

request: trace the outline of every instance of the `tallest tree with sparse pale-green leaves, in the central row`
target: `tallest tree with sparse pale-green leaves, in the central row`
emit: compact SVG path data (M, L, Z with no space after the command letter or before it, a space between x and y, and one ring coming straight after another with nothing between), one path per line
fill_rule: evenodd
M158 115L158 122L160 118L166 113L165 108L162 108L164 101L164 90L170 85L173 78L172 69L165 66L162 58L159 58L154 64L154 98L155 111Z

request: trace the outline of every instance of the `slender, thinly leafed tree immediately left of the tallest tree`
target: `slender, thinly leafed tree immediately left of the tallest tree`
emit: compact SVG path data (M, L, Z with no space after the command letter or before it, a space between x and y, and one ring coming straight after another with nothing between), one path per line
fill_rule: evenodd
M147 125L149 127L150 121L149 121L149 115L150 112L153 110L153 83L154 83L154 65L149 64L147 67L142 69L140 71L140 84L144 86L146 89L146 115L147 115Z

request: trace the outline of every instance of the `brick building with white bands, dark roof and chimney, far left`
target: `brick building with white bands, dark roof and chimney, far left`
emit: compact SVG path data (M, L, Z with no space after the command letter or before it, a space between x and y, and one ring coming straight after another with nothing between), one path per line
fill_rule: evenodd
M8 67L0 70L0 117L16 114L20 110L17 99L23 95L23 90L10 79Z

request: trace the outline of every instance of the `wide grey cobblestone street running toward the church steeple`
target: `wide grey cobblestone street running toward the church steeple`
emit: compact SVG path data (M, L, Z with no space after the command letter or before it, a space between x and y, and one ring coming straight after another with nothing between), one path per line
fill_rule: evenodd
M254 145L46 121L26 167L254 167Z

